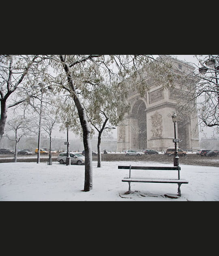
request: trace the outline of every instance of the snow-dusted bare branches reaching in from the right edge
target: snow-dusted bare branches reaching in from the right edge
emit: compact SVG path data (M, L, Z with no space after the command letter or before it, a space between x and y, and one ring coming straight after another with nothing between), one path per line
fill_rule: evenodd
M196 55L198 65L187 76L180 77L180 88L175 93L178 117L198 118L200 131L212 127L219 132L219 55Z

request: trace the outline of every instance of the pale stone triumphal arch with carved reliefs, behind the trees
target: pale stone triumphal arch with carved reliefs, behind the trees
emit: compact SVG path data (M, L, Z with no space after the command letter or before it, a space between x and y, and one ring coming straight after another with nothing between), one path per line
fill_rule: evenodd
M177 67L175 72L191 72L194 67L174 59ZM150 78L148 78L150 79ZM128 82L128 80L127 80ZM163 89L149 81L150 90L142 98L139 93L129 93L128 101L131 111L117 128L117 151L127 149L154 149L163 151L174 147L174 124L172 114L176 110L173 89ZM198 120L186 116L176 123L176 137L178 147L184 150L199 148Z

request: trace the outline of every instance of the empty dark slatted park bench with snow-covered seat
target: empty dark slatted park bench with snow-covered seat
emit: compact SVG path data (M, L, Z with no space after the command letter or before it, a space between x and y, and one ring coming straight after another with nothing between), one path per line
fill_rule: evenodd
M129 192L131 193L131 182L152 182L152 183L176 183L178 184L178 196L181 196L180 186L189 182L180 179L180 166L178 167L156 167L156 166L118 166L118 169L129 169L129 178L123 178L123 182L129 183ZM178 171L178 178L132 178L131 170L148 170L148 171Z

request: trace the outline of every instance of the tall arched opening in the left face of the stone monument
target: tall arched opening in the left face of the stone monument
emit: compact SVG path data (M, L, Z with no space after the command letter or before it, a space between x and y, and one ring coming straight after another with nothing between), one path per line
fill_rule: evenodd
M131 129L131 148L147 148L147 119L146 105L143 100L137 100L130 115L134 129Z

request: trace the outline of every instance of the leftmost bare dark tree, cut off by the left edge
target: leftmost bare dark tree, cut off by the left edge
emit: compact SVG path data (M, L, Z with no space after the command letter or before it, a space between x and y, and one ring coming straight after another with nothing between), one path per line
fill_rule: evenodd
M0 139L8 109L28 101L37 93L33 85L39 81L41 61L39 55L0 55Z

